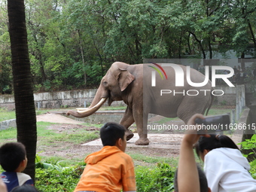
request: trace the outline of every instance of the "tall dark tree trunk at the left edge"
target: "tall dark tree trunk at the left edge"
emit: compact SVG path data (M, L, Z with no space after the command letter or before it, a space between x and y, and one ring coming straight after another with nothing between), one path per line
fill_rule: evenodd
M14 76L17 141L26 146L28 165L25 172L34 179L37 131L23 0L8 0L8 18Z

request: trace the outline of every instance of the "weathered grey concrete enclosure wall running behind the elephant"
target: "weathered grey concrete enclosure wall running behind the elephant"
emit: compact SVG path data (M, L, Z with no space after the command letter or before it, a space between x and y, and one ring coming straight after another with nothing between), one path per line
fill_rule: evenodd
M215 87L215 90L223 90L223 96L215 96L214 105L236 105L236 87ZM35 93L36 108L66 108L66 107L84 107L85 103L90 106L96 94L96 89L92 90L72 90L48 93ZM107 102L105 105L108 105ZM114 105L125 105L123 102L113 102ZM14 110L14 96L0 96L0 107Z

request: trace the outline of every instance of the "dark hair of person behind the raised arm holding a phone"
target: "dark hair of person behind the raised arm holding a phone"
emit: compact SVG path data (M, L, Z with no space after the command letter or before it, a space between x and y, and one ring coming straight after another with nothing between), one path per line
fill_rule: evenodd
M203 172L203 170L200 168L199 165L197 165L197 171L198 171L199 182L200 182L200 192L208 192L208 182L207 182L206 174ZM178 169L176 169L175 176L174 176L174 190L175 192L178 192Z

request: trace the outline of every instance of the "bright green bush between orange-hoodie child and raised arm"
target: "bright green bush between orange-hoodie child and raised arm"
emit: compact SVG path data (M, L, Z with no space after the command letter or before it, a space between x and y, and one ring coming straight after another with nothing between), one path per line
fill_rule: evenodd
M137 191L159 192L174 189L175 169L167 163L158 163L156 167L148 169L144 166L136 167Z

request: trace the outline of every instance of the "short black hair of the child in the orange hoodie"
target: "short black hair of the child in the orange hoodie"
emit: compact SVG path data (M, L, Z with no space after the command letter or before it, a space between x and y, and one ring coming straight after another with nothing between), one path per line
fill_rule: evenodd
M118 123L105 123L99 131L100 139L102 139L102 145L114 146L118 139L123 139L125 130L124 126Z

